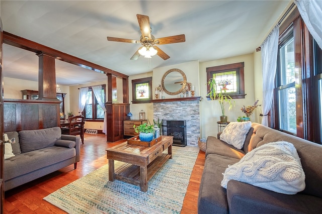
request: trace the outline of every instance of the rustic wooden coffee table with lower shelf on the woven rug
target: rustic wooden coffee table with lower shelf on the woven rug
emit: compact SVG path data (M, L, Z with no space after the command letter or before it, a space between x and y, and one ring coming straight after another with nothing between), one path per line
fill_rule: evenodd
M130 145L127 142L108 148L109 181L114 179L140 186L147 191L147 182L157 170L172 159L173 136L162 136L162 140L151 147ZM168 148L168 154L162 153ZM114 170L114 160L128 163Z

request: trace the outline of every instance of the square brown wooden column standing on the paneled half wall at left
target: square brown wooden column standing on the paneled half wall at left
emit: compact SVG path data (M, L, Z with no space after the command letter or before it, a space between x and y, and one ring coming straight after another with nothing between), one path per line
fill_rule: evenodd
M44 53L37 55L39 57L38 99L55 100L57 99L55 58Z

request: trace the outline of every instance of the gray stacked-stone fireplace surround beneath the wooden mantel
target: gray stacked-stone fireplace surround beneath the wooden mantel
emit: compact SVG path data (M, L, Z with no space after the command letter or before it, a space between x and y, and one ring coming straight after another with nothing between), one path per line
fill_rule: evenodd
M200 97L153 100L153 118L186 122L187 146L198 146Z

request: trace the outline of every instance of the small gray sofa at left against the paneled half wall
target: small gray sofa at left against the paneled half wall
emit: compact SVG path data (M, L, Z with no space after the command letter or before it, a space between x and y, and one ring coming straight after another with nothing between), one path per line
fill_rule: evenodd
M79 162L81 138L62 135L59 127L7 132L15 156L4 161L5 191Z

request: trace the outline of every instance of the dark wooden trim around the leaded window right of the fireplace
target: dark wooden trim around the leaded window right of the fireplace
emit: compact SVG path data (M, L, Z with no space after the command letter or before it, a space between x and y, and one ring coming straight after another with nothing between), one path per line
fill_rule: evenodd
M219 65L219 66L213 66L206 68L207 72L207 82L212 78L213 73L220 73L225 71L231 71L231 70L238 70L238 78L239 78L239 93L230 92L228 93L229 96L233 99L241 99L245 98L247 94L245 94L245 79L244 79L244 62L237 62L227 65ZM207 84L207 93L210 90L209 85ZM210 97L207 96L207 99L209 100Z

